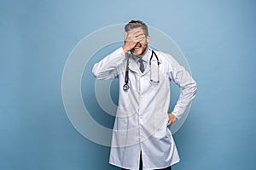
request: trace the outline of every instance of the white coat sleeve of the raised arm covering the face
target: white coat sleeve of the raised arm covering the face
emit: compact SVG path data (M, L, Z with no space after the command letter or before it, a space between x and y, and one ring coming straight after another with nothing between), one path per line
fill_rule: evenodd
M92 74L98 79L112 79L118 76L118 66L123 63L125 52L123 48L116 49L112 54L108 54L100 62L93 66Z

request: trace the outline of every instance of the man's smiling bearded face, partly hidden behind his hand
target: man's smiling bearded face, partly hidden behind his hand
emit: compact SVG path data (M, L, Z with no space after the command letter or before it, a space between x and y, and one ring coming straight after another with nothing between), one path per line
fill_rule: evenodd
M140 27L135 29L143 30L143 28L140 28ZM143 36L144 36L143 40L141 40L140 42L137 42L135 47L131 49L131 54L143 57L143 55L147 53L148 42L150 41L150 37L146 36L145 34Z

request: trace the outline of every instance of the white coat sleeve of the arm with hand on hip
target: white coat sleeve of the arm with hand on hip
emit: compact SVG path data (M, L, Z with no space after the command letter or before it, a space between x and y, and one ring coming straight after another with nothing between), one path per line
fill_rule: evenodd
M192 99L195 98L197 86L195 80L182 65L179 65L172 56L169 59L169 77L181 88L179 98L172 111L172 114L179 119L189 107Z

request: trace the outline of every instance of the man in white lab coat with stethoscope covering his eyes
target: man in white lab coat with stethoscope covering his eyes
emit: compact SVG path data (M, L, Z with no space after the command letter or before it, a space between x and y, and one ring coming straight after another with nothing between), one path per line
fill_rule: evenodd
M93 67L98 79L119 78L119 105L109 162L123 170L171 170L179 161L168 125L179 119L196 94L196 82L170 54L148 47L148 26L131 20L124 45ZM181 93L172 113L170 82Z

